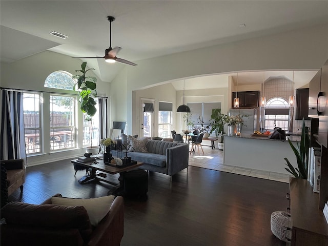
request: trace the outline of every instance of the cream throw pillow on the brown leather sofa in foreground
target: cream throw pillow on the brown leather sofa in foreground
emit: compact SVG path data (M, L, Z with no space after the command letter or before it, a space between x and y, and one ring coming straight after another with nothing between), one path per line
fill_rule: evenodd
M66 206L83 206L89 215L92 226L97 226L101 219L108 214L115 196L80 199L67 197L51 197L52 204Z

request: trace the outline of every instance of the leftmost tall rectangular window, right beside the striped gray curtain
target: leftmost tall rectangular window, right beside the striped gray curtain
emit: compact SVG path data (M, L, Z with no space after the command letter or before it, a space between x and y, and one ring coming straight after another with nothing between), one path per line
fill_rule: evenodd
M23 93L25 148L27 154L42 152L40 94Z

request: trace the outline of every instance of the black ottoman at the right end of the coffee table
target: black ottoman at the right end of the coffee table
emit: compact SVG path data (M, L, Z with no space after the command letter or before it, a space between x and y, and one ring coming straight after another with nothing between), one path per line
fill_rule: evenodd
M124 180L124 193L127 197L147 199L148 173L137 169L122 173Z

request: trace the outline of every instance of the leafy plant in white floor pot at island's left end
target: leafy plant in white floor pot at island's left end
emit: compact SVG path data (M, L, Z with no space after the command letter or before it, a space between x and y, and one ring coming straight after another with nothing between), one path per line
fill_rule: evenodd
M221 113L221 109L212 109L210 134L215 132L216 137L219 139L218 148L220 150L223 150L223 137L224 134L226 134L226 132L224 132L224 124L226 124L227 118L228 116L226 114Z

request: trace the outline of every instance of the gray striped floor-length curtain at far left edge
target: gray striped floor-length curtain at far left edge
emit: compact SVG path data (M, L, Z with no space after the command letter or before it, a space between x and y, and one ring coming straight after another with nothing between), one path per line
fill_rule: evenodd
M26 159L23 92L2 90L1 160Z

